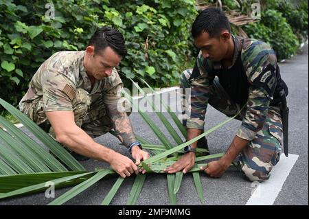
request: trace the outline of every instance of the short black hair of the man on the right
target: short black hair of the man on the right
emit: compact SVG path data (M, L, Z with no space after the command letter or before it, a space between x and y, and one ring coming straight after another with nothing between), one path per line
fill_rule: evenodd
M207 32L210 38L219 37L222 30L231 33L229 19L222 10L218 8L207 8L196 17L192 25L192 36L196 38L202 32Z

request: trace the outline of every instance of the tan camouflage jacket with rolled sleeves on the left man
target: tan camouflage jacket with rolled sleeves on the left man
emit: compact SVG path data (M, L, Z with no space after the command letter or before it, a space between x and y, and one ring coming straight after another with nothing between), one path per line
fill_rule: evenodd
M84 89L91 102L103 96L105 103L117 103L123 84L114 69L110 77L91 82L83 65L84 51L59 51L45 60L34 74L30 87L19 103L23 108L43 98L43 111L73 111L72 100L77 89Z

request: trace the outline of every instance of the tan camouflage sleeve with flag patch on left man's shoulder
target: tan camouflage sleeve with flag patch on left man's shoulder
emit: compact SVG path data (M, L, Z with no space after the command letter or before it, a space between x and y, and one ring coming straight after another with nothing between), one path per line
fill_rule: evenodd
M49 111L73 111L72 100L76 87L62 73L46 70L41 78L43 108Z

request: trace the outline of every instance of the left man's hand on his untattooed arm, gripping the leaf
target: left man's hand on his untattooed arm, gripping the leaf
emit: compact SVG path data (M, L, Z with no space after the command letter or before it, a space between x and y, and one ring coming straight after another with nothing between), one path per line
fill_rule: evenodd
M126 176L130 176L133 173L139 174L137 165L128 157L117 152L113 154L110 165L122 178L126 178Z

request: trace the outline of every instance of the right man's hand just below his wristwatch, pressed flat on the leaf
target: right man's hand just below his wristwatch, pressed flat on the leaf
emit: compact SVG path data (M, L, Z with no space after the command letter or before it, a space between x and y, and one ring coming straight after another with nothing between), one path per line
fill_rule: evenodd
M194 166L195 154L194 152L188 152L187 154L183 154L183 157L176 161L173 165L171 165L168 169L164 170L164 172L168 174L173 174L175 172L179 172L183 170L183 173L187 173Z

